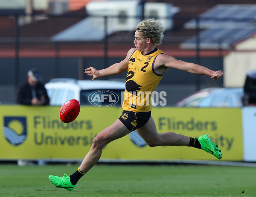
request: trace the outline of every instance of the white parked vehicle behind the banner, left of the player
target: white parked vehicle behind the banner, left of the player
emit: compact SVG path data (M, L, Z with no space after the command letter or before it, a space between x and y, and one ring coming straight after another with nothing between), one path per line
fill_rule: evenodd
M118 80L92 81L56 78L45 84L45 88L50 98L50 105L62 105L70 99L76 99L81 105L93 104L105 107L116 104L116 106L121 106L125 82Z

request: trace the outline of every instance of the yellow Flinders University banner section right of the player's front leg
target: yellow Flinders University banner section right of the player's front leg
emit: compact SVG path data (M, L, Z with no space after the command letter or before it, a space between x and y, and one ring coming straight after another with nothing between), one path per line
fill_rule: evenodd
M209 135L219 145L221 160L243 159L241 109L154 107L151 113L157 131L191 137ZM117 145L117 144L116 144ZM116 145L109 144L102 156L110 158ZM135 160L216 160L209 153L188 146L149 147L135 132L119 139L120 159ZM217 159L218 160L218 159Z

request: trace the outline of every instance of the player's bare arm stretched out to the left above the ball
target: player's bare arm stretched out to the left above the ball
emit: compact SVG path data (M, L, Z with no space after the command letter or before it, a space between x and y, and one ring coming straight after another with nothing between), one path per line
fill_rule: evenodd
M131 48L128 51L125 59L119 63L115 63L115 64L111 65L110 67L102 69L102 70L97 70L96 68L93 68L90 66L89 68L84 69L85 70L84 73L86 73L89 76L93 76L92 80L102 77L102 76L111 76L111 75L121 74L125 70L128 69L128 61L129 61L130 56L134 52L134 50L135 50L135 48Z

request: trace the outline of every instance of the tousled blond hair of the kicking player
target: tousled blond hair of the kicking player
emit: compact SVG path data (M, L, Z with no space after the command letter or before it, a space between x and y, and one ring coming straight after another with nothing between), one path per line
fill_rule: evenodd
M159 20L143 20L138 23L136 31L139 31L143 38L151 38L155 45L162 44L164 27Z

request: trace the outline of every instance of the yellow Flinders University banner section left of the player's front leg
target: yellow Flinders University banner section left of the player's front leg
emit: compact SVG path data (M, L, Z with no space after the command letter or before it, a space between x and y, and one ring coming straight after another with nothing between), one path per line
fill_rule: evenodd
M83 158L98 132L117 118L115 107L81 107L75 121L63 123L60 108L0 106L0 158Z

